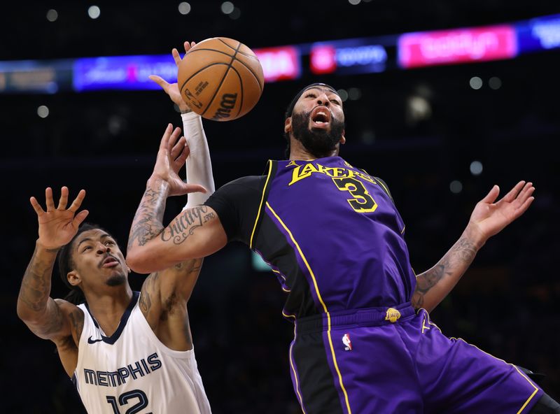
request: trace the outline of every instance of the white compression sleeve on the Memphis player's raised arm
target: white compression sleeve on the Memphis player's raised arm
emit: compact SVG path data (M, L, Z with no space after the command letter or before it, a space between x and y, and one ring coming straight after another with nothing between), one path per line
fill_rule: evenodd
M206 134L202 128L202 117L194 112L181 114L183 118L183 135L187 139L190 155L186 162L187 182L203 185L208 190L206 193L193 192L188 194L187 204L183 207L192 208L200 206L216 191L214 176L212 176L212 163L210 150L206 141Z

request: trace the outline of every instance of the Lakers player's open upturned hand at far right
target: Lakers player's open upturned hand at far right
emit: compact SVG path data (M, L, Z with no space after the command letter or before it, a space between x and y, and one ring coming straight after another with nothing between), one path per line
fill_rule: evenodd
M470 215L469 224L477 227L482 243L525 213L535 199L532 196L534 191L533 183L519 181L502 199L494 202L500 193L500 188L494 185Z

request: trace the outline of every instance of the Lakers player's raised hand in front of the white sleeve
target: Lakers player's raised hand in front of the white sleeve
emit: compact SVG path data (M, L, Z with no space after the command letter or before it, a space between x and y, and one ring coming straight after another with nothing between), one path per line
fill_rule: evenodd
M173 129L173 125L167 125L162 136L158 158L155 160L152 177L160 178L169 185L169 196L180 196L190 192L207 192L199 184L184 183L179 177L179 171L185 165L189 155L186 139L181 136L181 128Z

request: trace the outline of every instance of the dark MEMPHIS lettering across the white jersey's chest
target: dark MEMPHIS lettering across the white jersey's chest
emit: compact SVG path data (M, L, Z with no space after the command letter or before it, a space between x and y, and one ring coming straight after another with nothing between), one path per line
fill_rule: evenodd
M162 367L162 362L158 356L158 352L148 355L132 364L127 364L116 371L97 371L94 369L83 369L85 383L97 385L100 387L118 387L127 382L127 380L136 380L139 377L153 373L156 369Z

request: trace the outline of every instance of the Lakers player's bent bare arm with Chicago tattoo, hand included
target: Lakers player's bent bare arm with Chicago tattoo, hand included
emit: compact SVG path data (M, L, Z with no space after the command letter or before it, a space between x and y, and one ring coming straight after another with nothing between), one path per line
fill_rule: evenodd
M216 212L207 206L187 208L167 227L162 224L167 197L206 192L197 184L183 183L178 171L189 148L181 129L169 124L162 136L152 176L134 216L127 248L127 263L137 273L167 269L186 259L211 255L223 248L227 236Z

